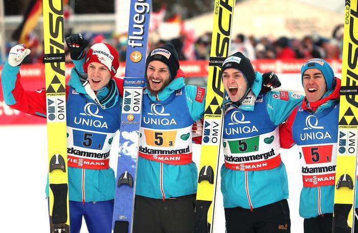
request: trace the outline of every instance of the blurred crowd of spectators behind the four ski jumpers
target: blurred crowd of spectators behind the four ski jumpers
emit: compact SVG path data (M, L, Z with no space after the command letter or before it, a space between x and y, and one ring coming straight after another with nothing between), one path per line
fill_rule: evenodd
M113 44L120 55L120 61L125 61L127 36L110 33L84 33L89 39L88 47L98 42ZM31 55L24 63L42 62L43 45L36 35L33 35ZM154 33L150 34L148 51L170 42L174 45L181 60L207 60L210 55L211 33L193 39L189 33L181 33L180 37L164 41ZM8 52L16 42L8 43ZM331 38L324 38L318 34L304 36L302 39L289 37L255 37L254 35L238 34L232 37L231 53L240 51L251 60L255 59L340 59L342 57L343 25L337 26ZM71 62L66 50L66 62Z

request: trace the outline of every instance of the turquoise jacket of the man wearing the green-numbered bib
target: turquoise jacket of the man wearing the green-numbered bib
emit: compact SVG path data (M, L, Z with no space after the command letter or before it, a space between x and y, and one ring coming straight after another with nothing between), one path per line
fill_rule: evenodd
M262 75L256 73L256 79L252 86L255 97L259 95L261 83ZM275 126L279 126L283 123L289 113L300 104L303 98L290 92L288 92L288 96L285 96L284 100L280 99L280 96L280 92L278 91L269 91L263 94L264 101L266 102L266 107L263 110L267 112L271 121L270 124ZM230 101L230 99L228 100L228 98L226 98L225 101ZM238 108L244 113L245 111L253 111L255 107L256 105L240 105ZM257 121L262 121L262 119L257 119ZM238 135L238 137L240 137L240 135ZM247 181L245 181L245 176L247 176ZM249 187L248 192L245 188L247 184ZM278 167L270 170L237 171L222 165L221 192L223 195L223 204L226 208L238 206L247 209L257 208L282 199L287 199L288 184L285 166L281 161Z

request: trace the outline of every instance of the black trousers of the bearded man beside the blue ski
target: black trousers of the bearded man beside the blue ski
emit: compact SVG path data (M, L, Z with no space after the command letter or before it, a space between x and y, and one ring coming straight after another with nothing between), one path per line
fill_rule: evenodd
M195 195L153 199L136 195L133 233L192 233Z

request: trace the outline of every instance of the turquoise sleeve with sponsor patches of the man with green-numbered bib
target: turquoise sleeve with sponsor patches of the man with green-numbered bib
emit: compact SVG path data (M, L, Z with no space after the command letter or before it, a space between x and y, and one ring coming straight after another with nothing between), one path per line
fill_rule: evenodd
M269 117L275 125L286 121L288 115L303 100L303 96L288 91L269 91L264 98Z

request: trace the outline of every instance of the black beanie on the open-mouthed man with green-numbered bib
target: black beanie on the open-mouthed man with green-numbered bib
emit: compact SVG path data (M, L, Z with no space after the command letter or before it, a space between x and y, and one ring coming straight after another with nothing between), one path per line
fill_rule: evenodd
M252 86L255 81L255 71L254 67L252 67L251 61L249 58L243 56L242 53L236 52L222 63L221 73L228 68L235 68L241 71L243 76L245 77L248 88Z

